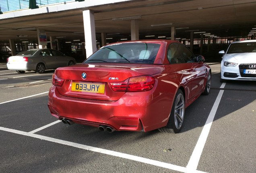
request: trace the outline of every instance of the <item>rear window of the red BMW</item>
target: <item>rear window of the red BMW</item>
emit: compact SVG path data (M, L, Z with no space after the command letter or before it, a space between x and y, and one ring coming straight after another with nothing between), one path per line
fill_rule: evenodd
M117 43L104 46L91 55L87 62L127 62L153 64L160 44L156 43Z

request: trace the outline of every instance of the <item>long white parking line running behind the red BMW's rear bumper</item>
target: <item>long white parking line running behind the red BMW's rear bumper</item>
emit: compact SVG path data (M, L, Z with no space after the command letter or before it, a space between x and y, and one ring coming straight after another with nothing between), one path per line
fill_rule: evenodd
M101 149L101 148L97 148L97 147L91 147L91 146L88 146L88 145L73 143L73 142L64 141L64 140L61 140L61 139L55 139L55 138L51 138L51 137L37 135L37 134L34 134L34 133L28 133L28 132L18 131L18 130L14 130L14 129L8 129L8 128L5 128L5 127L0 127L0 130L10 132L10 133L19 134L19 135L24 135L24 136L28 136L28 137L34 137L34 138L37 138L37 139L42 139L42 140L50 141L50 142L54 142L54 143L59 143L59 144L62 144L62 145L68 145L68 146L71 146L71 147L76 147L76 148L80 148L80 149L94 151L94 152L97 152L97 153L102 153L102 154L107 154L107 155L111 155L111 156L115 156L115 157L129 159L129 160L132 160L132 161L147 163L149 165L154 165L154 166L158 166L158 167L172 169L174 171L180 171L180 172L183 172L183 173L187 172L186 167L181 167L181 166L173 165L173 164L170 164L170 163L164 163L164 162L156 161L156 160L152 160L152 159L146 159L146 158L138 157L138 156L135 156L135 155L129 155L129 154L120 153L120 152L116 152L116 151ZM205 172L194 171L193 173L205 173Z

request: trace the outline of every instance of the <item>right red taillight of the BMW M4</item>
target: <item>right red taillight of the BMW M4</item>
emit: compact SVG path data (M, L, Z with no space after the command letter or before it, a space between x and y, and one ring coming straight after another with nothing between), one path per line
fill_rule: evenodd
M140 92L149 91L154 87L155 78L152 76L136 76L122 82L109 82L113 91L117 92Z

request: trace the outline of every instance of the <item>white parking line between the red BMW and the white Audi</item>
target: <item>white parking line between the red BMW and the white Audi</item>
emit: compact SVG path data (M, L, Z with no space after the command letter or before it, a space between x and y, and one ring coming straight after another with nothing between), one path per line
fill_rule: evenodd
M226 83L222 83L221 87L220 88L224 88L225 87L225 84ZM211 125L213 123L213 119L215 117L215 114L216 114L216 111L219 107L219 103L221 101L221 97L223 95L223 92L224 90L221 90L219 91L219 94L215 100L215 103L213 105L213 108L206 120L206 123L204 125L204 128L202 129L202 132L200 134L200 137L196 143L196 147L194 148L194 151L188 161L188 165L187 165L187 168L188 168L188 173L190 172L194 172L194 170L197 169L197 166L198 166L198 163L199 163L199 160L200 160L200 157L201 157L201 154L202 154L202 150L204 148L204 145L206 143L206 139L209 135L209 132L210 132L210 129L211 129Z

